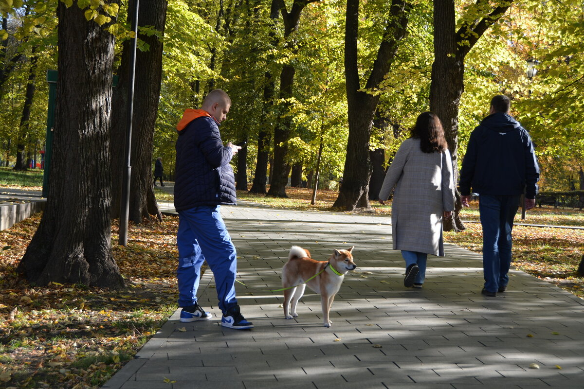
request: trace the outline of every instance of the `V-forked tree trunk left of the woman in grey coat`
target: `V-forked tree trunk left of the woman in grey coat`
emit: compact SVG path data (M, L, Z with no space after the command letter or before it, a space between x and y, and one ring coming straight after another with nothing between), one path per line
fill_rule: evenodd
M405 36L408 11L411 6L402 0L391 3L390 18L385 28L373 68L367 79L366 89L376 89L390 71L398 49L398 43ZM373 117L379 96L361 90L357 52L359 33L359 0L347 0L345 24L345 78L349 118L349 139L343 172L343 185L333 208L353 211L355 208L371 208L369 204L369 139Z

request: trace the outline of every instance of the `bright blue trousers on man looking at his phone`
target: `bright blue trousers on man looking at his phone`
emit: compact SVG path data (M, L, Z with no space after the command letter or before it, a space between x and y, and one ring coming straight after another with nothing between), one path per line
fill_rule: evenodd
M179 211L176 245L179 250L179 265L176 269L179 306L188 307L197 302L200 270L205 260L215 277L219 309L227 313L227 310L237 306L237 253L221 219L219 206L196 206Z

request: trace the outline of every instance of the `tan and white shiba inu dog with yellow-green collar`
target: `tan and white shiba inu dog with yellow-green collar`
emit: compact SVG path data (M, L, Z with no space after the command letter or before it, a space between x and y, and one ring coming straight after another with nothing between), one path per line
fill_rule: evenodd
M339 291L340 284L348 271L357 265L353 262L351 251L333 250L328 261L315 261L310 257L310 251L302 247L292 246L288 262L282 268L282 285L284 288L297 285L296 288L284 290L284 317L298 317L296 305L304 295L305 286L321 295L322 321L325 327L331 327L329 311Z

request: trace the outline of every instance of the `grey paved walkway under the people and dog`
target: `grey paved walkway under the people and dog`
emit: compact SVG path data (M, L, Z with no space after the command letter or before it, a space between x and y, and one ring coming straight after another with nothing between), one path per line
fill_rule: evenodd
M253 288L280 288L293 244L320 260L355 246L358 268L333 303L332 327L309 290L300 316L285 320L281 294L241 285L255 328L220 327L209 271L200 303L214 320L180 323L176 311L103 388L584 388L584 300L554 285L512 271L507 292L483 297L480 256L447 245L446 257L429 259L424 288L405 289L388 218L241 205L222 213L239 279Z

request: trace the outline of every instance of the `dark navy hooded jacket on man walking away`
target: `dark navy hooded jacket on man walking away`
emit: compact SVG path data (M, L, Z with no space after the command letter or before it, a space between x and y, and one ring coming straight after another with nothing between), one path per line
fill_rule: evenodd
M511 115L494 113L475 128L460 170L460 194L535 198L540 167L529 133Z

